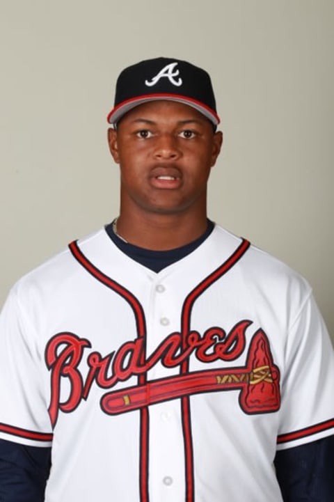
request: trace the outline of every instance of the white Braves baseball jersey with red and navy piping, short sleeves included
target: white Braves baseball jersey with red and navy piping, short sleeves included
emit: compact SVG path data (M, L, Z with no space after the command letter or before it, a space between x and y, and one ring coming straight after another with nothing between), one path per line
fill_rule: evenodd
M276 449L334 432L308 283L215 226L152 272L106 231L21 279L0 321L0 437L52 446L47 502L280 502Z

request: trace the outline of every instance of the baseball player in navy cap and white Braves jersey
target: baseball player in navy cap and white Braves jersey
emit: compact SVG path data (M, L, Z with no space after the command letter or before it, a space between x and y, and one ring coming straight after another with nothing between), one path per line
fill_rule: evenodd
M108 120L119 217L1 313L0 500L333 502L331 341L299 274L207 219L209 75L132 65Z

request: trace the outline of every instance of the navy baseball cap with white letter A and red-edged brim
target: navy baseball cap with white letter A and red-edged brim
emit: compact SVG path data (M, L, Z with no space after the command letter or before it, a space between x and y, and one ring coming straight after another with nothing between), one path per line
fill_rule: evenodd
M188 104L214 126L220 122L209 74L174 58L148 59L122 70L116 82L114 107L107 120L116 125L127 111L154 100Z

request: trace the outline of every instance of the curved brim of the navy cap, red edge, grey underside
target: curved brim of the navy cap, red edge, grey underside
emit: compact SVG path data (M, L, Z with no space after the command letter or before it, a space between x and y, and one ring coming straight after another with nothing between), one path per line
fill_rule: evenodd
M202 115L207 117L214 125L218 125L218 123L220 123L221 121L216 112L211 108L206 107L204 104L196 100L192 100L189 97L176 94L148 94L140 97L135 97L131 100L123 101L111 110L111 112L107 116L107 120L109 124L116 124L118 123L118 120L120 120L120 118L125 115L125 113L132 110L133 108L138 107L140 104L157 100L176 101L179 103L188 104L189 107L195 108L200 113L202 113Z

